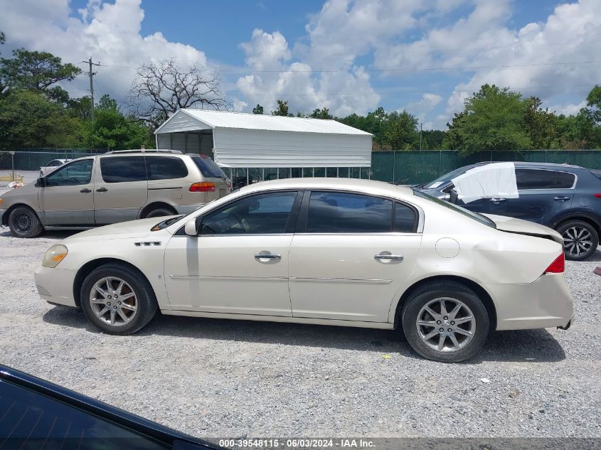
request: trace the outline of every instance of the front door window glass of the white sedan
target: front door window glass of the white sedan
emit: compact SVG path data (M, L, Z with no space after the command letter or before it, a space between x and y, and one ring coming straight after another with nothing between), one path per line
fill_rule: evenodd
M250 195L204 216L201 235L274 234L286 232L296 192Z

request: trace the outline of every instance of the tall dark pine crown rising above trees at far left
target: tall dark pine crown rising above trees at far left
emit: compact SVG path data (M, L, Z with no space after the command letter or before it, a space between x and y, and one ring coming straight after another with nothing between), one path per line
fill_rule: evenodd
M4 85L13 89L46 91L54 97L60 97L65 91L60 87L50 89L50 86L73 80L80 73L80 68L71 63L63 64L58 56L48 52L18 48L13 50L13 58L0 58L0 78Z

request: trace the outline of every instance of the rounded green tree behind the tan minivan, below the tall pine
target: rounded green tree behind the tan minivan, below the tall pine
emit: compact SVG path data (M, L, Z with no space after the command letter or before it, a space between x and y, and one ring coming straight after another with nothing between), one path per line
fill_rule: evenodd
M0 99L0 146L78 147L83 125L41 92L10 90Z

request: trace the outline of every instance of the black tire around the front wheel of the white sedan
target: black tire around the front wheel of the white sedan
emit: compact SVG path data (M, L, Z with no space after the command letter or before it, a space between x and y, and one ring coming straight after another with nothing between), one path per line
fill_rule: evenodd
M131 321L127 323L124 322L122 324L118 324L118 322L122 320L117 318L115 321L117 325L111 325L108 321L97 317L95 312L92 311L93 306L90 301L91 291L94 289L95 284L101 282L101 280L106 279L107 277L115 277L116 279L124 281L131 286L131 289L128 289L128 292L134 292L134 298L136 299L136 311L134 316L131 318ZM97 307L97 309L100 309L100 311L102 311L105 306L108 308L107 313L101 316L105 319L108 319L110 316L112 316L110 309L117 309L117 306L115 305L115 299L111 299L111 301L112 304L109 303L108 306L107 304L94 306ZM120 301L118 302L121 304ZM97 269L92 270L92 272L85 277L80 289L80 304L83 312L94 326L100 328L100 330L104 331L105 333L117 335L132 334L138 331L140 328L146 326L147 323L152 320L154 314L156 314L157 309L156 296L154 296L152 286L144 277L144 275L137 271L137 269L133 269L126 264L119 263L110 263L100 266ZM116 312L115 316L117 317Z

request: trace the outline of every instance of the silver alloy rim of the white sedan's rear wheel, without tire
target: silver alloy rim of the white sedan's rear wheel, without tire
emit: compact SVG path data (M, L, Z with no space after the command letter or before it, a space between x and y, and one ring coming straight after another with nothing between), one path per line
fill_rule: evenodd
M440 353L452 353L472 341L476 318L461 300L440 297L420 309L415 326L425 345Z

